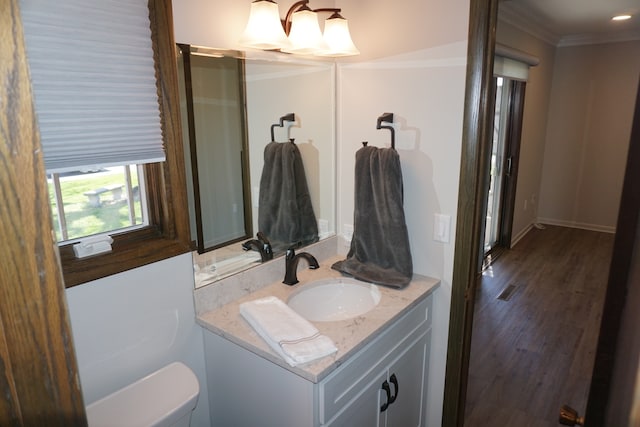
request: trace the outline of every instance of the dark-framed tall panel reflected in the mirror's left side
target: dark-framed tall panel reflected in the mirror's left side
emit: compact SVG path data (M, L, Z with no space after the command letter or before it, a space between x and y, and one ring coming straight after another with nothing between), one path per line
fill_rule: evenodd
M191 233L204 253L253 234L243 61L178 47Z

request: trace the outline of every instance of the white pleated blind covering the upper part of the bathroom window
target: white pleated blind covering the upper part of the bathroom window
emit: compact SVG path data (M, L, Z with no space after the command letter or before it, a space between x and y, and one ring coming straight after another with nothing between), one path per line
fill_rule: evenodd
M147 0L21 0L48 172L164 161Z

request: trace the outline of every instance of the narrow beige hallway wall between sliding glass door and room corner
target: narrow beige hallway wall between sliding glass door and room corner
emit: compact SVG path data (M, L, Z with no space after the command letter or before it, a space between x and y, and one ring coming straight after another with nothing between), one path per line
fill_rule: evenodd
M538 216L555 46L504 21L498 22L496 41L540 60L537 66L529 68L525 93L512 228L512 240L515 241L529 230Z

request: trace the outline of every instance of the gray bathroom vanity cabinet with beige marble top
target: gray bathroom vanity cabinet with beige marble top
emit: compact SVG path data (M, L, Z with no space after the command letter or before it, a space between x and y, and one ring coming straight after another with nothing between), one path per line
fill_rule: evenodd
M330 265L300 267L300 283L281 279L200 312L212 422L219 426L422 426L426 420L432 292L438 280L415 276L402 290L379 287L379 304L342 321L312 322L338 348L289 366L239 314L245 301L287 302L305 283L338 277ZM318 302L322 303L321 301Z

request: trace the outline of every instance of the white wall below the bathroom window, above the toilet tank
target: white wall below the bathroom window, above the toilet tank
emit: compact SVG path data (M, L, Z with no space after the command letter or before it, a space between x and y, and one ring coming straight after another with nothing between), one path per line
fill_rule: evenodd
M181 361L200 383L191 425L209 426L193 286L191 254L184 254L67 289L85 404Z

